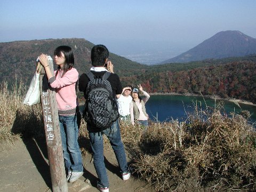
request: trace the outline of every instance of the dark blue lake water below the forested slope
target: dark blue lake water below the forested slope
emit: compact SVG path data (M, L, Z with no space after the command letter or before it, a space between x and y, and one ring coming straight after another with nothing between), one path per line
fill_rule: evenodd
M256 106L245 105L239 103L237 106L234 102L216 100L203 97L188 97L181 95L151 95L146 103L146 111L149 118L156 121L156 118L160 122L170 121L170 119L182 119L186 118L188 113L192 113L195 110L195 105L202 107L217 106L219 102L224 102L223 109L227 114L230 112L239 113L242 110L250 111L250 122L256 122ZM205 104L206 103L206 104Z

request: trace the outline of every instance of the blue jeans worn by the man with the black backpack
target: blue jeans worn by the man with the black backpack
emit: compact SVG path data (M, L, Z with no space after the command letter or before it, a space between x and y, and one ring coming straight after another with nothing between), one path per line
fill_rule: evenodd
M98 185L100 187L109 187L108 175L104 163L103 155L103 133L108 137L110 144L116 155L120 172L129 172L123 142L121 140L118 119L114 124L102 132L89 132L90 143L93 153L93 164L98 175Z

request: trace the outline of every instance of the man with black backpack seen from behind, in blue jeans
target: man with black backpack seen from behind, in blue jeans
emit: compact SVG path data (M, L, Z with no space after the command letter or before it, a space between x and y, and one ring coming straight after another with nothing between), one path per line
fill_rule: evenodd
M122 93L118 75L108 61L109 52L104 45L95 45L91 51L92 68L79 77L79 91L84 92L84 119L87 122L93 164L98 175L97 188L109 191L109 181L103 156L103 134L109 139L115 152L123 180L130 178L118 123L116 99ZM108 70L107 70L108 69Z

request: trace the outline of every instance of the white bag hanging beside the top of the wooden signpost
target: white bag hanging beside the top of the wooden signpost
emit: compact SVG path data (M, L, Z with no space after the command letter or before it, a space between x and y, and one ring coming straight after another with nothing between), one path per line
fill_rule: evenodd
M39 74L35 73L33 76L33 79L29 85L28 92L26 94L26 97L23 101L23 104L25 105L36 105L40 103L40 88L39 88Z

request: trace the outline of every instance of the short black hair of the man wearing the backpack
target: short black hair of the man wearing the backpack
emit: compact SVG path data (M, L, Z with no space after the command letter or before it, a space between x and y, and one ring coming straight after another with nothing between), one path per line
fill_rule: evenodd
M92 60L92 66L98 67L98 66L104 66L106 59L108 59L109 52L105 45L95 45L92 47L91 51L91 60Z

